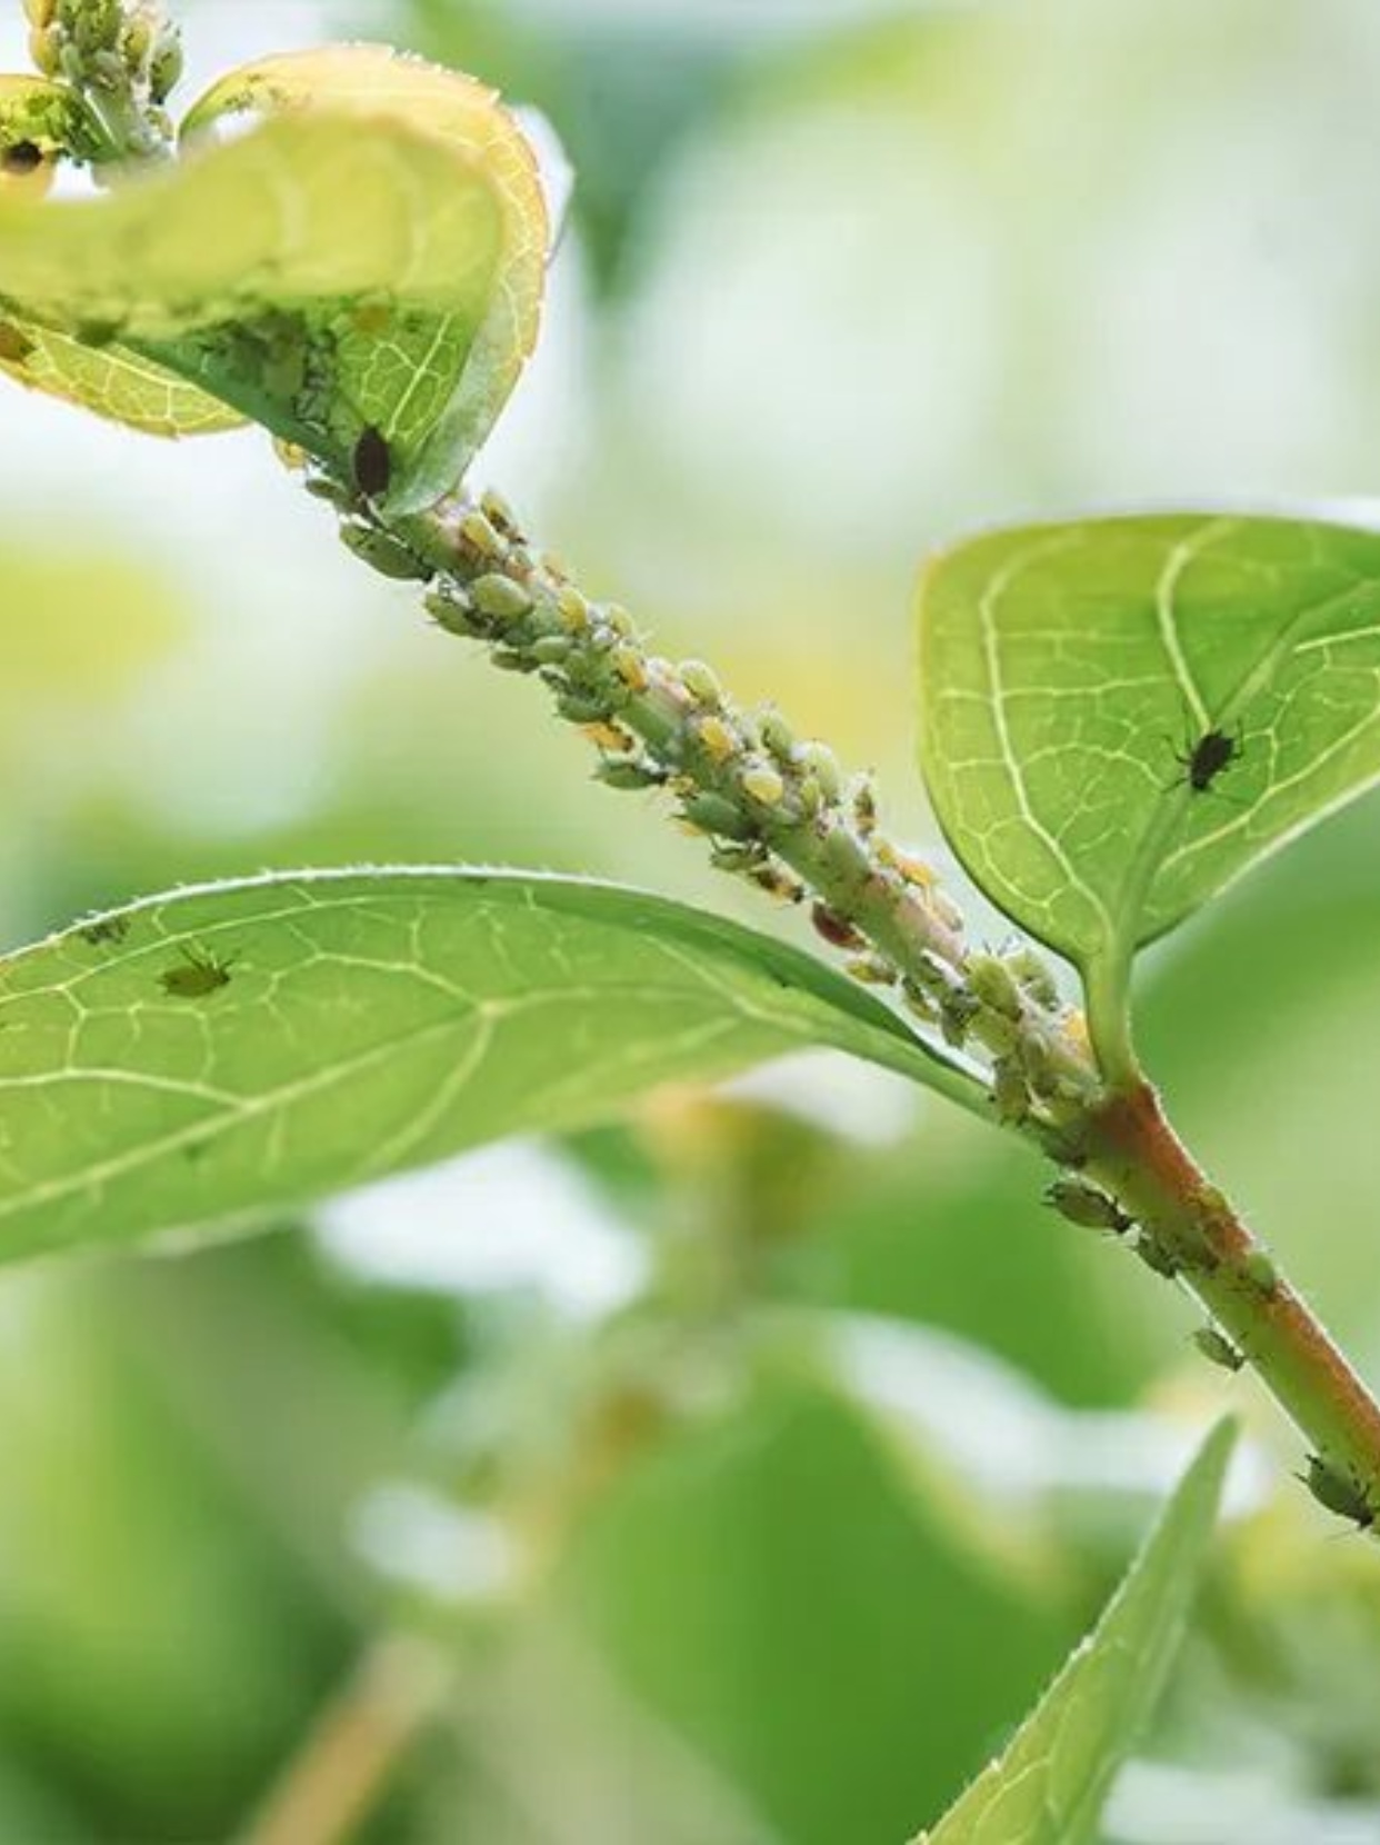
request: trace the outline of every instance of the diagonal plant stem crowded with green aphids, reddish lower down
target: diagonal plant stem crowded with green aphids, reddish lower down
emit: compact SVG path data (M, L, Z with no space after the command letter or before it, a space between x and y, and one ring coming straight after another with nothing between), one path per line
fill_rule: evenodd
M1094 1053L1037 976L994 982L991 956L928 867L874 827L871 790L775 712L747 714L705 666L649 655L622 609L587 601L533 554L502 502L450 502L387 524L336 489L347 539L389 574L434 581L437 624L535 673L605 751L613 786L662 786L716 838L716 862L775 895L814 899L821 934L860 978L895 985L935 1063L935 1089L1033 1137L1098 1181L1140 1229L1135 1247L1183 1279L1258 1371L1319 1459L1380 1518L1380 1408L1308 1304L1173 1137L1125 1022L1127 969L1092 970ZM1017 959L996 969L1017 967ZM1039 963L1037 970L1039 970ZM1101 978L1101 985L1098 983Z

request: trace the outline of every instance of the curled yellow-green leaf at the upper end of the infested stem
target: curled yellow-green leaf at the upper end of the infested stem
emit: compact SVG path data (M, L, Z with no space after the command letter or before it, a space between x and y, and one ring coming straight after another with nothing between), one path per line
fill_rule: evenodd
M245 113L266 120L210 144ZM11 369L105 415L129 399L138 428L175 434L223 426L210 395L343 476L373 426L389 504L439 498L517 382L541 306L535 159L494 92L339 46L227 77L184 140L177 166L111 197L0 205L0 314L20 339L37 325L111 354L83 371L42 343L41 367L18 352ZM173 402L164 373L183 380Z

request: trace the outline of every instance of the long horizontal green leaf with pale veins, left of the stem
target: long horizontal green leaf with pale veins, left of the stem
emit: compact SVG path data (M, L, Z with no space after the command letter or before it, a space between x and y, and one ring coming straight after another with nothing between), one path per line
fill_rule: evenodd
M613 886L275 876L0 961L0 1255L253 1225L810 1044L930 1079L799 950Z

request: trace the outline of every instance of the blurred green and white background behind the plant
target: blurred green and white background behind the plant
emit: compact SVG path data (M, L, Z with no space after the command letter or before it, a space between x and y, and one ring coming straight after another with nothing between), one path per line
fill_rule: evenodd
M546 114L577 184L482 474L666 651L874 764L926 849L926 548L1380 493L1373 0L183 18L188 96L369 37ZM7 943L183 880L391 860L793 928L594 788L535 688L358 568L262 437L168 448L13 386L0 803ZM1367 801L1142 989L1183 1129L1373 1376L1378 849ZM1232 1520L1105 1836L1376 1845L1373 1546L1325 1542L1188 1303L1041 1183L815 1059L232 1247L7 1273L0 1838L898 1845L1232 1402Z

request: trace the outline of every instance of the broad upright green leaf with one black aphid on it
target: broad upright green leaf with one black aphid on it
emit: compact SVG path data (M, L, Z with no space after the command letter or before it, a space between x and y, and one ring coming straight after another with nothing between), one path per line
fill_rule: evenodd
M1380 533L1175 513L1000 531L921 589L922 768L976 884L1127 959L1380 775ZM1194 790L1183 756L1240 755Z

